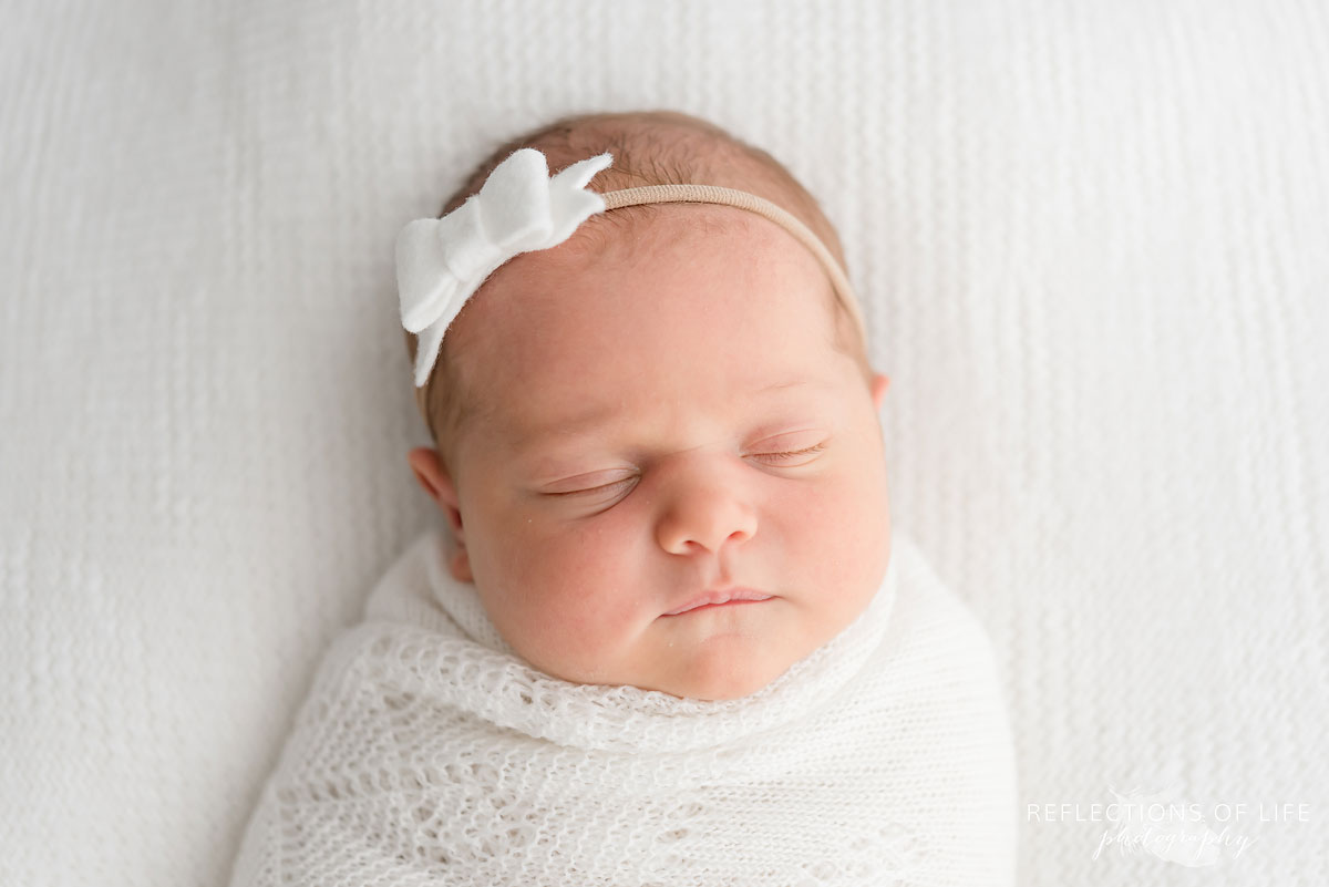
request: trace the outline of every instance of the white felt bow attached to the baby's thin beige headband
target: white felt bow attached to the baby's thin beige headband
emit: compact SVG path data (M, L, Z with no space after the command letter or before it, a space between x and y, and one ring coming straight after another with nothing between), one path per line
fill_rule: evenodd
M441 219L416 219L397 234L401 325L417 335L415 384L429 378L443 335L480 284L521 252L556 247L605 211L586 183L613 155L578 161L549 177L533 147L510 154L480 191Z

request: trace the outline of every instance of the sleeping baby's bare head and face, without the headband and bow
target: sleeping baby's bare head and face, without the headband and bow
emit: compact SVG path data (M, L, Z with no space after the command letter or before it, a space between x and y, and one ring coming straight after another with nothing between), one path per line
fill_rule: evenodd
M682 114L560 121L502 146L444 212L518 147L550 173L610 151L597 193L756 194L843 264L779 163ZM409 463L452 526L452 574L532 665L735 698L835 637L881 586L885 389L789 231L731 206L622 207L517 255L464 304L417 390L437 449ZM767 599L671 615L735 587Z

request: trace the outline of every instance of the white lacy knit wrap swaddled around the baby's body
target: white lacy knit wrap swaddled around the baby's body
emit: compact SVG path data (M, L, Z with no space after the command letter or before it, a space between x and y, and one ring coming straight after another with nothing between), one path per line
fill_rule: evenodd
M728 701L530 668L444 556L419 539L328 651L233 887L1014 882L990 645L906 539L857 621Z

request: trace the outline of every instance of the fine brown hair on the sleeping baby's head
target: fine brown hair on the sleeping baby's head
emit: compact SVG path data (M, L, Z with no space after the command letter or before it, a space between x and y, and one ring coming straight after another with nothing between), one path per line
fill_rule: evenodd
M552 174L577 161L610 151L614 155L613 166L598 173L591 182L591 190L599 193L643 185L687 183L750 191L793 214L821 238L841 268L845 264L844 250L835 227L821 212L816 199L779 161L714 123L678 112L577 114L518 135L497 147L472 171L461 187L447 199L439 218L452 212L476 194L494 167L522 147L541 150ZM659 211L661 206L657 203L629 206L593 216L595 224L586 224L578 231L582 248L594 248L597 254L602 254L621 239L610 236L611 232L639 224ZM570 248L578 248L574 240L569 244ZM853 319L840 304L829 279L824 289L833 312L836 332L832 345L853 359L864 381L870 385L872 369ZM457 317L464 316L468 307L469 303L462 305ZM453 324L456 323L453 320ZM405 341L407 353L413 364L415 333L407 332ZM452 473L456 470L456 445L461 429L482 412L484 405L478 404L468 390L459 361L449 356L449 341L452 339L444 337L429 378L416 389L416 404L429 428L440 461Z

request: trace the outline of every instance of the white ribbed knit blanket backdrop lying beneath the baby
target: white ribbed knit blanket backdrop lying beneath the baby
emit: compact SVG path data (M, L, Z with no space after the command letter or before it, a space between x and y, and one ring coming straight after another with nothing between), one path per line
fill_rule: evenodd
M226 880L323 648L441 526L397 228L497 141L641 106L840 227L897 526L993 636L1022 805L1090 819L1025 822L1021 882L1324 883L1324 4L0 16L0 884ZM1111 787L1257 841L1094 859Z

